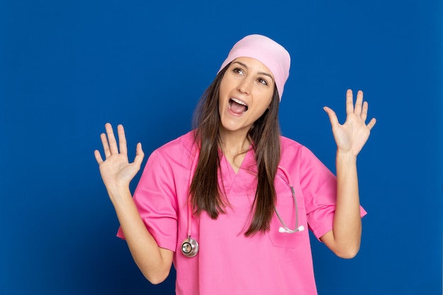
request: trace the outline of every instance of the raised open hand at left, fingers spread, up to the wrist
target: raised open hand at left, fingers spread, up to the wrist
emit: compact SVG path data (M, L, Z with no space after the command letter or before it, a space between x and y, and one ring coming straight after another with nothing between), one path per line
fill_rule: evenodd
M103 179L103 183L105 183L105 186L111 196L111 192L114 190L118 191L129 188L132 178L134 178L134 176L140 170L144 153L142 150L142 144L137 144L134 162L129 163L127 158L125 129L123 129L123 126L117 126L118 145L114 136L113 127L107 123L105 125L105 129L106 134L100 134L100 139L103 144L103 151L105 153L105 161L103 161L100 151L94 151L94 155L96 156L96 160L100 168L100 175Z

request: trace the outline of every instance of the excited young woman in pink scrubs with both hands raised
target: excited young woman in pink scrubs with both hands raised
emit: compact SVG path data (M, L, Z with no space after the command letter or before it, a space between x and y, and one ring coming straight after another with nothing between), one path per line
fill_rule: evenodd
M176 294L316 294L309 233L352 258L362 233L357 154L366 124L361 91L346 93L340 125L325 107L337 144L337 175L309 149L280 136L278 108L289 54L263 35L229 52L197 107L197 126L156 149L132 197L144 153L127 158L125 132L101 134L95 151L120 229L146 279L176 267ZM118 142L117 142L118 141Z

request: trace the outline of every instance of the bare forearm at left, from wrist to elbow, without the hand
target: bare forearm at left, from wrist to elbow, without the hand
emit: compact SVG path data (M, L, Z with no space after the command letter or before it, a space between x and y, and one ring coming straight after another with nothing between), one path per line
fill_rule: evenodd
M149 282L163 282L171 270L173 252L159 248L140 218L129 188L109 194L132 258Z

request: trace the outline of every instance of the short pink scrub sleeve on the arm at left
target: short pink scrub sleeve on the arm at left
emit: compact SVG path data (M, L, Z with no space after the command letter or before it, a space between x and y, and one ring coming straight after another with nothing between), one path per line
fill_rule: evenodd
M134 192L140 216L161 248L176 251L178 206L173 169L159 151L149 156ZM125 238L122 229L117 236Z

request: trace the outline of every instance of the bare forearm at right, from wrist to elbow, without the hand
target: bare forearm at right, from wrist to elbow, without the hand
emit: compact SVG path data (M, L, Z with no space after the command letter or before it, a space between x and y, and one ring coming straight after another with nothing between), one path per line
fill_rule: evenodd
M324 241L333 252L342 258L354 257L360 246L362 221L357 178L357 158L337 152L337 202L333 231Z

